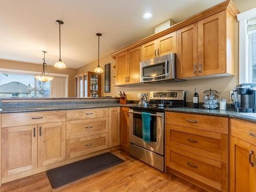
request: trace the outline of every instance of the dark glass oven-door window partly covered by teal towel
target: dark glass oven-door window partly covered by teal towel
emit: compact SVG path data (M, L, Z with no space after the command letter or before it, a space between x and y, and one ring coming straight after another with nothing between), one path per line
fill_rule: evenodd
M152 142L157 141L157 117L151 116L150 122ZM133 134L141 139L142 138L142 117L140 114L133 114Z

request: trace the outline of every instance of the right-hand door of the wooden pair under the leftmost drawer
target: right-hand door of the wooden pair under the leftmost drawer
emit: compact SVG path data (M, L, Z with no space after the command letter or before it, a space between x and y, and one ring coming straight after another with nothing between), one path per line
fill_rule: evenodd
M38 124L38 167L66 159L66 122Z

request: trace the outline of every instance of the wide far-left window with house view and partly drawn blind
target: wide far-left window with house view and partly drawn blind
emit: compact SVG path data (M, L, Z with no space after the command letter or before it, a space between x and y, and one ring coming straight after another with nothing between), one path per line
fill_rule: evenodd
M35 79L33 74L18 73L18 70L0 69L0 97L66 97L67 96L67 75L66 77L54 77L54 82L41 82ZM15 72L13 72L15 71ZM28 72L32 73L32 72ZM60 79L57 81L56 80ZM53 94L52 94L52 93Z

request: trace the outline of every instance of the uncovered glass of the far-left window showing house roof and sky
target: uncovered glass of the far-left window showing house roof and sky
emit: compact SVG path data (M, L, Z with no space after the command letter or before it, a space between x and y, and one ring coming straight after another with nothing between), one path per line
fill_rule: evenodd
M0 97L50 97L50 82L41 82L34 75L0 73Z

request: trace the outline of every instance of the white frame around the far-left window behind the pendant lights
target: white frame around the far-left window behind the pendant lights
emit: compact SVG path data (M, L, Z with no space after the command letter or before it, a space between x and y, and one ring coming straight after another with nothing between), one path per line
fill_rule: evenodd
M22 74L22 75L40 75L41 74L41 72L37 72L37 71L23 71L23 70L4 69L4 68L0 68L0 73L9 73L9 74L16 74L16 75L18 75L18 74ZM66 97L68 97L68 93L69 93L69 90L68 90L69 89L69 75L51 73L51 76L66 78ZM50 84L50 86L51 86L51 84Z

